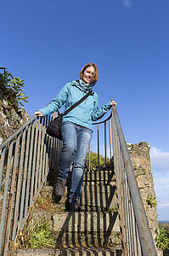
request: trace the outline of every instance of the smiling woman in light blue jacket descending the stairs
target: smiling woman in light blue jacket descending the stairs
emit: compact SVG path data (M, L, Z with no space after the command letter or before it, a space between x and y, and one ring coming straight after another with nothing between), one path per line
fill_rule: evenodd
M34 113L34 115L45 116L54 113L65 104L65 109L70 108L82 98L99 79L96 64L87 63L82 67L80 80L72 81L59 91L59 94L46 106ZM81 211L79 197L81 195L84 164L89 143L92 138L92 121L104 116L104 113L116 105L114 101L99 108L98 95L94 92L85 101L63 117L61 133L63 137L63 148L60 154L59 172L54 192L57 196L65 194L65 183L73 162L70 188L70 211Z

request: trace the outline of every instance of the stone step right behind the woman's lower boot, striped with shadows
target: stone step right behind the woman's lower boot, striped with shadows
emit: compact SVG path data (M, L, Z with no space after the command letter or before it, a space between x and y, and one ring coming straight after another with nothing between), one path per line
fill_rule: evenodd
M82 195L80 203L83 211L116 211L117 201L115 195L115 186L82 186ZM68 205L67 188L65 195L57 198L54 195L52 186L44 186L42 188L40 198L50 198L55 209L65 211L65 206ZM58 208L57 208L58 207Z

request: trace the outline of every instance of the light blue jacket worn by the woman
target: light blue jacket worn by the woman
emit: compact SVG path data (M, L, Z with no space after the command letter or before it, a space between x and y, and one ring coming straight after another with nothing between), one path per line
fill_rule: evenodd
M45 116L58 111L64 104L65 109L68 109L78 102L82 96L85 96L86 93L87 90L82 88L78 80L72 81L65 84L59 94L46 107L38 110ZM70 121L93 130L92 121L101 119L110 108L110 102L99 108L98 95L94 92L92 96L88 96L80 105L63 116L63 122Z

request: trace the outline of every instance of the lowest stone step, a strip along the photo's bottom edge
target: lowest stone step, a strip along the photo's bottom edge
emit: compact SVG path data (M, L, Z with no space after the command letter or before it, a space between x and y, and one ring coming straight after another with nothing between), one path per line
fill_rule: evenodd
M102 247L70 247L61 249L27 249L19 250L13 255L17 256L48 256L48 255L63 255L63 256L121 256L121 249L102 248Z

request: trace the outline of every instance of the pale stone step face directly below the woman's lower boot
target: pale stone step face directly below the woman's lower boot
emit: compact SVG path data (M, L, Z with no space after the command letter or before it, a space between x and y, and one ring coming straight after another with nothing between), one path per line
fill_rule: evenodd
M53 220L55 231L66 230L68 232L90 231L120 232L119 217L117 212L33 212L33 219L46 218Z

